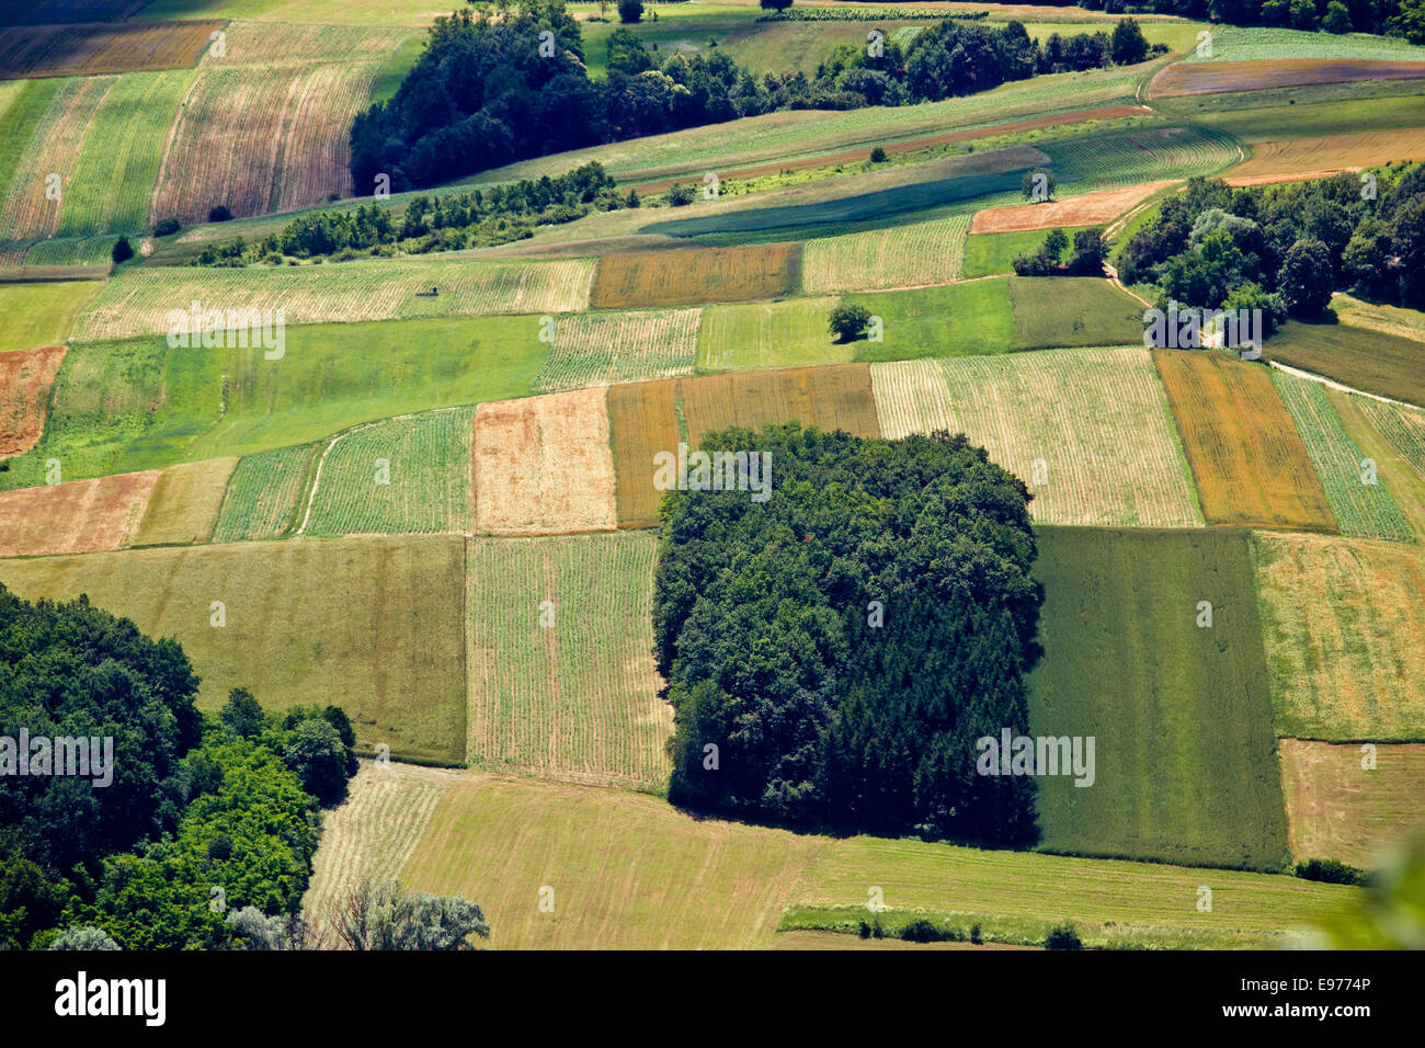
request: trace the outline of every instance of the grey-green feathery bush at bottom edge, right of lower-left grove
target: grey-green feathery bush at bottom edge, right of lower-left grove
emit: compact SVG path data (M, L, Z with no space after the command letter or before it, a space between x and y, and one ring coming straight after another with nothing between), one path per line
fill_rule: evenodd
M363 881L336 903L332 917L348 950L473 950L470 935L490 937L475 903L405 891L398 881Z

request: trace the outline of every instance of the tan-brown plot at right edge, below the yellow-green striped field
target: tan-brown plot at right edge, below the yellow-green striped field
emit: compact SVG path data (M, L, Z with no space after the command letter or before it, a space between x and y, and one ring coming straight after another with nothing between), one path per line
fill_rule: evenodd
M1359 746L1281 740L1281 784L1297 861L1335 858L1374 870L1381 853L1425 827L1425 746L1378 746L1361 767Z

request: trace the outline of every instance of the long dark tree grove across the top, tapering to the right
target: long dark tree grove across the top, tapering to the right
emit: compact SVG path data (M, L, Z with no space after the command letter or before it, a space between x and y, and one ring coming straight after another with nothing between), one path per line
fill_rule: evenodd
M1113 37L1054 34L1036 47L1019 23L969 20L929 26L903 51L893 41L878 54L845 44L815 77L758 77L717 51L654 66L628 31L611 34L607 47L608 76L591 80L563 0L522 0L500 17L466 10L437 19L396 94L352 125L358 191L382 174L392 190L412 190L513 160L774 110L933 101L1149 53L1136 26Z

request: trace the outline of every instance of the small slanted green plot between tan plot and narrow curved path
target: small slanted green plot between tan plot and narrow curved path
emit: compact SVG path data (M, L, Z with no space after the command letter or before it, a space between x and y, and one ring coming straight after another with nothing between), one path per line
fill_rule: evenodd
M238 461L228 481L214 542L282 539L302 523L306 492L325 443L278 448Z

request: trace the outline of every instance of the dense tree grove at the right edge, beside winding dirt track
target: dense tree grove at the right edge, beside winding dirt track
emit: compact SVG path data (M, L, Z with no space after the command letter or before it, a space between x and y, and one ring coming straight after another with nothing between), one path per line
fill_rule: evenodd
M1317 317L1332 289L1425 307L1425 165L1231 188L1193 178L1124 245L1130 284L1200 308ZM1161 304L1160 304L1161 305Z

